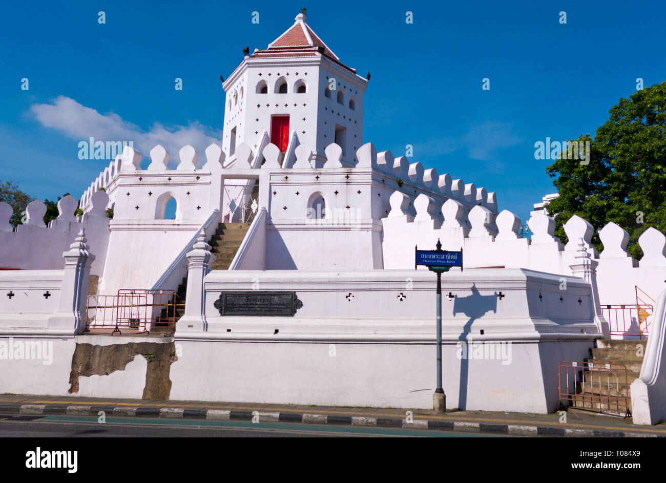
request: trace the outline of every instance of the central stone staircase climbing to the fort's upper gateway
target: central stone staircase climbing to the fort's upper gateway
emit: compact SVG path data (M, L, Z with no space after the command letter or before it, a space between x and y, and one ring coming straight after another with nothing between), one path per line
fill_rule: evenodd
M216 256L212 265L213 270L226 270L229 268L245 234L250 229L250 223L220 223L215 234L210 237L210 251ZM151 328L151 333L170 334L174 331L172 321L178 320L185 312L185 295L187 290L187 277L176 290L176 302L169 305L168 310L162 309L160 318L155 320L156 324Z

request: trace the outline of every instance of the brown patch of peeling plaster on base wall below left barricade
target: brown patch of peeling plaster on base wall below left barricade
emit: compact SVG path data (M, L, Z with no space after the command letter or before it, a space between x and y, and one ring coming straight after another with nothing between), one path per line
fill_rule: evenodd
M175 352L173 342L126 342L107 346L77 344L72 357L69 393L102 396L107 392L115 397L168 399L170 366L178 360ZM138 355L143 357L136 358ZM79 388L82 376L93 382L85 384L85 391ZM133 395L117 395L123 390L129 390Z

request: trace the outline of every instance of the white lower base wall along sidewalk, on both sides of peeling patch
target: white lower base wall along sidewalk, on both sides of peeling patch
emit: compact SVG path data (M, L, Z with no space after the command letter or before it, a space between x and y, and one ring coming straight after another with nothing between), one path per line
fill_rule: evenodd
M13 338L19 343L25 340L29 339ZM110 374L79 376L79 391L68 392L77 342L123 345L143 338L39 340L53 343L50 357L0 360L1 393L143 397L149 362L139 354ZM592 342L513 342L503 353L508 357L501 358L498 352L494 359L474 358L474 344L468 345L468 359L458 357L460 346L444 344L447 408L545 413L553 412L559 402L557 363L581 360ZM176 340L175 350L179 355L168 374L172 384L168 398L174 400L432 407L434 344Z

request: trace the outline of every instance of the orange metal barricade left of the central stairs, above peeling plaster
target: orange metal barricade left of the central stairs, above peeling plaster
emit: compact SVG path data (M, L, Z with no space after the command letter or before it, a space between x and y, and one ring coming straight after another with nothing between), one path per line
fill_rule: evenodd
M116 295L89 295L86 331L146 333L176 324L175 290L121 288Z

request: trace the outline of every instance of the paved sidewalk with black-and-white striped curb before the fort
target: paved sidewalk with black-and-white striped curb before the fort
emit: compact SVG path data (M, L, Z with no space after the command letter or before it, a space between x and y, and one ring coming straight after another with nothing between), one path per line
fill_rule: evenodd
M97 416L107 417L204 418L212 420L250 420L259 422L304 422L389 426L424 430L488 432L518 436L666 436L666 425L635 426L631 418L618 418L569 410L567 422L559 414L526 414L452 410L435 414L429 410L395 408L352 408L259 404L242 402L149 401L141 399L85 398L78 396L34 396L1 394L0 414ZM1 416L0 416L1 418Z

